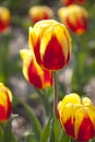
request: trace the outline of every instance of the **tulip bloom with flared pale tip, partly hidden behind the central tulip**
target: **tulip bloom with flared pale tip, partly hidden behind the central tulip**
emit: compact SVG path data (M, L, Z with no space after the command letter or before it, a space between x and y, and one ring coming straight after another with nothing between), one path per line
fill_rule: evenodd
M31 50L20 51L23 59L23 74L35 87L44 88L52 84L51 72L40 68Z

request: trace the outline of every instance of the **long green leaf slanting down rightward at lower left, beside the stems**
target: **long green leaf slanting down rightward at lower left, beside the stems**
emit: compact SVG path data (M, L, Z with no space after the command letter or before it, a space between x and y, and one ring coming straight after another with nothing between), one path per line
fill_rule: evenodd
M37 117L34 115L32 108L25 104L23 100L20 100L22 106L24 107L29 120L31 120L31 123L32 123L32 128L33 128L33 131L34 131L34 135L35 135L35 139L37 141L40 140L40 133L41 133L41 127L40 127L40 123L37 119Z

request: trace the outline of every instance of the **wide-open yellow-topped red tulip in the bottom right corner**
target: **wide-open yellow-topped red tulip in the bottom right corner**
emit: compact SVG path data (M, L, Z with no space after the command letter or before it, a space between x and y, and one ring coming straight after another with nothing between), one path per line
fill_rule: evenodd
M58 104L58 115L63 130L78 141L95 137L95 106L90 98L75 93L66 95Z

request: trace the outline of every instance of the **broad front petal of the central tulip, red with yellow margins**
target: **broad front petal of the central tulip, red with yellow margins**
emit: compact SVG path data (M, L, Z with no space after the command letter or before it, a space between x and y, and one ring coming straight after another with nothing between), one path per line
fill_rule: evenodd
M59 24L56 24L51 31L48 29L44 34L40 44L40 57L47 69L60 69L67 64L71 47L69 38L66 27Z

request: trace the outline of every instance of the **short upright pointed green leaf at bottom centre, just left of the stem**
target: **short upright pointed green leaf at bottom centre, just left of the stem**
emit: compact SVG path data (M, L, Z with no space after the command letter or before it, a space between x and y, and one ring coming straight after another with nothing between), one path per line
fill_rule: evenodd
M49 134L50 134L50 123L51 123L51 117L49 118L47 125L43 129L40 142L48 142Z

